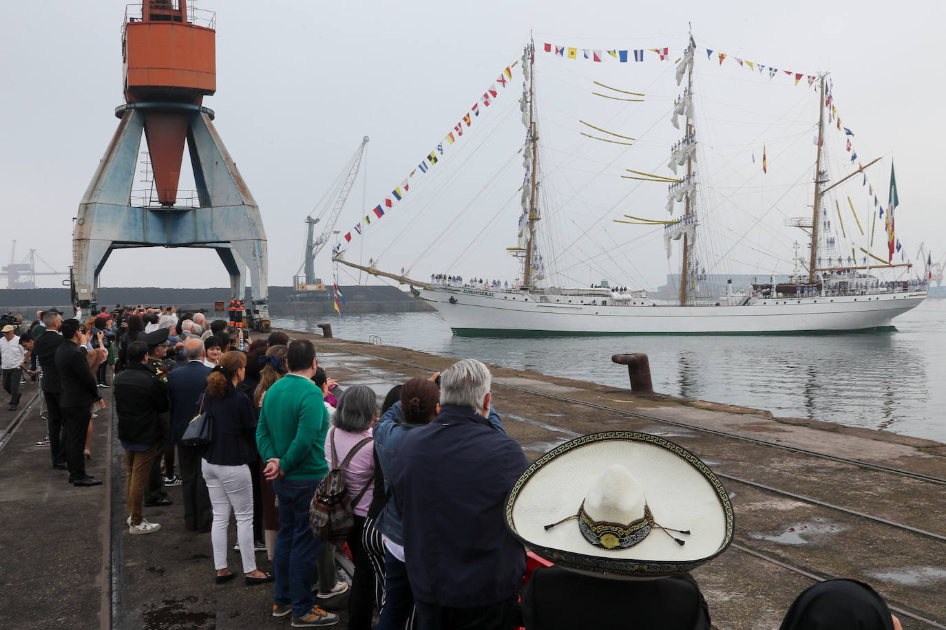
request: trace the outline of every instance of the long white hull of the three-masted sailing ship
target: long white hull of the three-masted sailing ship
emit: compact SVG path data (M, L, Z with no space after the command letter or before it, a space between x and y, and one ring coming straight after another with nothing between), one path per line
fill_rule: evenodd
M890 328L893 318L920 305L925 291L862 296L756 299L745 306L580 303L569 296L469 287L420 288L458 335L545 334L773 334L850 332ZM452 298L452 302L451 302ZM559 301L555 301L555 300Z

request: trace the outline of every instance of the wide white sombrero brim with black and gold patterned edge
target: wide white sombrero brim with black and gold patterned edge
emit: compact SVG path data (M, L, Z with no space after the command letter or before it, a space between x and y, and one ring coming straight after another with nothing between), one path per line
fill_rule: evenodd
M656 528L629 548L604 549L578 522L550 526L579 512L588 488L614 465L633 474L653 519L683 532L674 536L686 544ZM583 435L536 459L510 490L505 517L513 536L555 565L626 579L695 569L726 551L735 522L726 489L696 455L633 431Z

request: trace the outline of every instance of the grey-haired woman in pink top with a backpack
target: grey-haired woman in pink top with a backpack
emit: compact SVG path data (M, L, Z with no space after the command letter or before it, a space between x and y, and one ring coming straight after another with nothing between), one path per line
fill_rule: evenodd
M354 385L345 390L335 410L334 426L325 437L325 459L334 468L349 452L354 451L348 466L342 470L348 497L352 502L355 525L346 541L355 561L351 595L348 598L348 627L352 630L371 628L374 606L372 590L375 574L368 553L361 548L361 530L368 516L375 485L375 456L372 430L377 422L377 396L367 385ZM367 613L367 614L366 614Z

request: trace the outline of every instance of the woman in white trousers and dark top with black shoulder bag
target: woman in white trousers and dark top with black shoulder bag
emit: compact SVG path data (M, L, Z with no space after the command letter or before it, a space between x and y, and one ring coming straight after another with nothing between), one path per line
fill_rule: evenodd
M253 544L253 481L250 466L256 461L256 419L253 403L236 391L246 372L246 355L226 352L207 376L203 407L212 418L210 444L203 452L201 471L214 506L211 542L214 545L215 582L236 575L227 567L227 527L230 510L236 515L236 540L247 586L272 582L272 575L256 569Z

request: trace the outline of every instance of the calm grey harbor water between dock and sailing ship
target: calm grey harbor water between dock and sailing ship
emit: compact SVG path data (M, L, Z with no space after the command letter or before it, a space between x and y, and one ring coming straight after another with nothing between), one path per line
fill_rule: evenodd
M346 339L619 387L627 368L611 355L645 352L663 394L946 442L946 299L901 315L895 331L839 335L456 337L436 313L277 315L272 325L320 332L321 321Z

